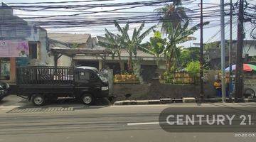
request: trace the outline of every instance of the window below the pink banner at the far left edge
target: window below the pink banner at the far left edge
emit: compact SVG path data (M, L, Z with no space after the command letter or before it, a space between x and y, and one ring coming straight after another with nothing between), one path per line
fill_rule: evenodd
M0 80L10 80L10 58L0 58Z

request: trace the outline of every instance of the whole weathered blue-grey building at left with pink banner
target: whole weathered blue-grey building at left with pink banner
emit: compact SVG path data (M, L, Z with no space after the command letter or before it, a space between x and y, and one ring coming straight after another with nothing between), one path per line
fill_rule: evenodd
M16 67L46 65L47 32L14 16L13 9L4 3L0 18L0 80L15 84Z

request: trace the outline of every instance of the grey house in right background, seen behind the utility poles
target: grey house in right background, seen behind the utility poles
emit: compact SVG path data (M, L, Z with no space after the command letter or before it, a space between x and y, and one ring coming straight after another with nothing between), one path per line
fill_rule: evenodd
M228 58L229 58L229 40L225 40L225 65L228 67ZM237 40L233 40L233 46L231 48L231 63L235 64L236 60L236 46ZM212 70L220 70L220 41L213 43L208 43L204 46L205 52L204 57L209 60L208 64ZM252 57L256 56L256 40L244 40L244 45L242 49L242 57L248 57L245 59L245 62L250 62Z

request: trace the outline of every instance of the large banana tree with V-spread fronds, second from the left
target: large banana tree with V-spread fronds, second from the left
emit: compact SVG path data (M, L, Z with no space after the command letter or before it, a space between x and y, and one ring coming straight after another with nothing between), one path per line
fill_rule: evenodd
M128 31L129 31L129 23L127 23L123 28L117 23L117 21L114 21L114 26L117 28L119 33L119 38L121 40L122 46L127 50L127 53L129 54L129 60L128 60L128 70L129 72L133 71L133 62L132 57L135 56L137 58L137 49L142 47L142 40L146 37L146 35L149 35L149 33L155 28L155 26L152 26L151 28L147 29L146 31L143 31L145 23L143 22L139 28L134 28L134 31L132 33L132 38L129 37Z

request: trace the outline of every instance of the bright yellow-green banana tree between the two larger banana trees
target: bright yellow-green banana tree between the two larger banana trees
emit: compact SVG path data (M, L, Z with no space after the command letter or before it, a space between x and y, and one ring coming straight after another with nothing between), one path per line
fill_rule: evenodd
M149 53L154 55L156 58L156 65L159 68L160 56L164 53L166 45L166 39L161 38L161 33L159 31L154 31L154 36L150 38L148 43L145 43L145 46L139 48L144 51L144 53Z

